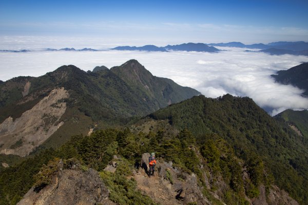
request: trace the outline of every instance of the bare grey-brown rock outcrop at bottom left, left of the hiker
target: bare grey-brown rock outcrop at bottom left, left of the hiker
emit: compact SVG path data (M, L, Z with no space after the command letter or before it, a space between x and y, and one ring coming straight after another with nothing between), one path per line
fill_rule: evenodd
M97 171L63 170L54 177L51 185L38 193L30 189L17 204L115 204L108 195L108 189Z

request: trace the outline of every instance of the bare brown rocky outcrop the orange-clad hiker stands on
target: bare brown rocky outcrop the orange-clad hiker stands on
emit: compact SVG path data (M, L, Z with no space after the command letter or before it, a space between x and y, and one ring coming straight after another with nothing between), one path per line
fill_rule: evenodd
M142 162L147 158L148 164L148 156L148 153L143 154ZM185 179L179 180L178 175L182 174ZM140 190L160 204L187 204L189 202L211 204L202 195L202 188L197 185L197 176L195 174L188 175L172 168L172 162L160 163L157 160L154 176L148 177L143 170L139 170L134 175L134 179L136 179Z

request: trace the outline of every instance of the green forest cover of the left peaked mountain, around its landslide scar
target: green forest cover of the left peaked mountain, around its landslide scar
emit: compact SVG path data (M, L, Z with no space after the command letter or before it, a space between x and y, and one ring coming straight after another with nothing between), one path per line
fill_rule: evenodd
M28 81L30 90L23 97ZM63 99L67 109L60 119L65 123L32 154L58 148L72 135L87 134L94 125L95 129L118 128L169 103L200 94L170 79L153 76L137 60L95 72L62 66L40 77L17 77L0 84L0 123L9 116L20 117L50 91L61 87L69 92L69 97ZM54 122L50 116L43 119L45 125Z

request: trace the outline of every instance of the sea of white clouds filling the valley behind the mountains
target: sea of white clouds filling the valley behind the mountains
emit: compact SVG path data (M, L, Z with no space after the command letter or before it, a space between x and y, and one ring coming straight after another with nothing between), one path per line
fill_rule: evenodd
M102 65L111 68L129 59L137 59L153 75L171 78L182 86L197 89L206 97L215 98L226 93L248 96L271 115L286 109L308 109L308 98L301 96L302 90L275 83L271 77L279 70L287 70L302 61L308 61L307 56L268 55L245 52L246 49L239 48L219 49L224 51L0 52L0 79L5 81L16 76L40 76L62 65L75 65L85 71Z

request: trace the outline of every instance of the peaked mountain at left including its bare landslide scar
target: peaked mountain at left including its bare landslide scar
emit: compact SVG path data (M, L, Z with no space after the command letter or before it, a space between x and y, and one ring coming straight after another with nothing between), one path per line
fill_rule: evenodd
M0 152L25 156L40 145L59 147L71 135L120 126L199 94L153 76L137 60L110 70L70 65L16 77L0 85Z

